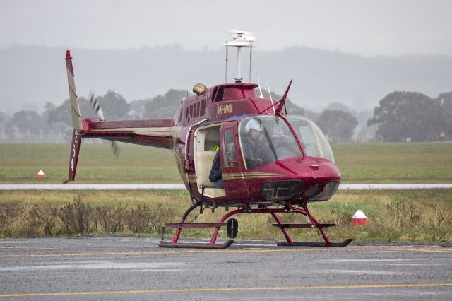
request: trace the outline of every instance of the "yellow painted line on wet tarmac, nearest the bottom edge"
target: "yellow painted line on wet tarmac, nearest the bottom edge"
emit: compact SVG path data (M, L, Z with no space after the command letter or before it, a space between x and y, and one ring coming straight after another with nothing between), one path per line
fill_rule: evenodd
M452 283L408 283L408 284L369 284L369 285L325 285L325 286L275 286L248 288L174 288L166 290L105 290L97 292L61 292L61 293L24 293L1 294L0 297L42 297L68 295L124 295L146 293L191 293L191 292L222 292L222 291L253 291L253 290L340 290L359 288L437 288L452 286Z

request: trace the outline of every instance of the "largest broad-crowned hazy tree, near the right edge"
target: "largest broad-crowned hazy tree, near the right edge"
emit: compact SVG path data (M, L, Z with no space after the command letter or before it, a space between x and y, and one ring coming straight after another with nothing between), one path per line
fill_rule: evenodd
M438 100L417 92L393 92L380 100L367 125L377 125L376 137L383 141L433 141L444 121Z

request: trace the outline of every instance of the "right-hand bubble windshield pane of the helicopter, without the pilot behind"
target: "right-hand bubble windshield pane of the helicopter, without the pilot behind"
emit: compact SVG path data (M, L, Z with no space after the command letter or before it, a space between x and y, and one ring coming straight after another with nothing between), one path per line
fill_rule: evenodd
M286 119L297 133L306 155L334 162L333 150L319 126L306 117L287 116Z

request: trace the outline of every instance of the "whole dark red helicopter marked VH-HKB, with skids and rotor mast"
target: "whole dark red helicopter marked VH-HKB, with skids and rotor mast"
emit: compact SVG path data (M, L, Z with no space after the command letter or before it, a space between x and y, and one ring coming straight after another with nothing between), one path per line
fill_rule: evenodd
M160 247L224 249L237 237L238 213L270 213L273 224L280 228L287 242L279 246L345 247L352 239L331 242L323 228L335 226L320 223L308 210L308 203L327 201L340 184L340 172L334 164L333 152L326 137L314 122L287 114L285 100L264 98L260 85L243 83L240 75L242 48L250 49L254 37L235 31L226 46L226 83L207 88L198 83L194 95L182 99L172 119L142 119L105 121L97 100L91 103L100 120L81 119L74 81L72 57L66 52L73 136L69 160L69 181L76 176L78 153L82 138L114 141L167 148L174 152L177 167L191 196L192 205L180 223L167 224L175 228L172 242L160 242ZM227 83L228 48L237 47L237 77ZM258 93L259 92L259 93ZM284 109L284 110L283 110ZM215 155L222 184L210 182L209 175ZM217 159L218 160L218 159ZM216 186L216 187L215 187ZM218 187L218 188L217 188ZM187 223L191 211L203 213L218 207L235 208L218 223ZM307 223L282 223L278 214L299 213ZM227 220L230 218L229 220ZM227 220L227 223L226 223ZM227 227L225 243L215 243L218 231ZM207 243L180 243L184 228L215 228ZM316 228L324 242L294 242L287 228Z

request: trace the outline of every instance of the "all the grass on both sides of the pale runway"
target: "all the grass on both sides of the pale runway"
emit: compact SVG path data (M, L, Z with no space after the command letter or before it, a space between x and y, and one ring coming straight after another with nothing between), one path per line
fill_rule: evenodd
M452 143L368 143L333 146L343 182L451 182ZM69 144L0 144L0 183L56 184L67 179ZM47 177L37 179L38 170ZM107 143L81 147L76 183L180 183L172 151L121 144L114 159ZM160 235L190 205L186 191L0 191L0 237L53 235ZM339 191L313 203L314 216L334 240L452 242L452 189ZM370 223L350 225L361 209ZM215 222L224 209L198 217ZM195 216L189 216L192 220ZM287 215L286 222L299 221ZM282 239L270 216L242 215L239 238ZM208 237L208 230L184 230ZM291 229L297 240L319 240L316 230ZM220 237L225 237L220 232ZM171 236L171 231L166 233Z

